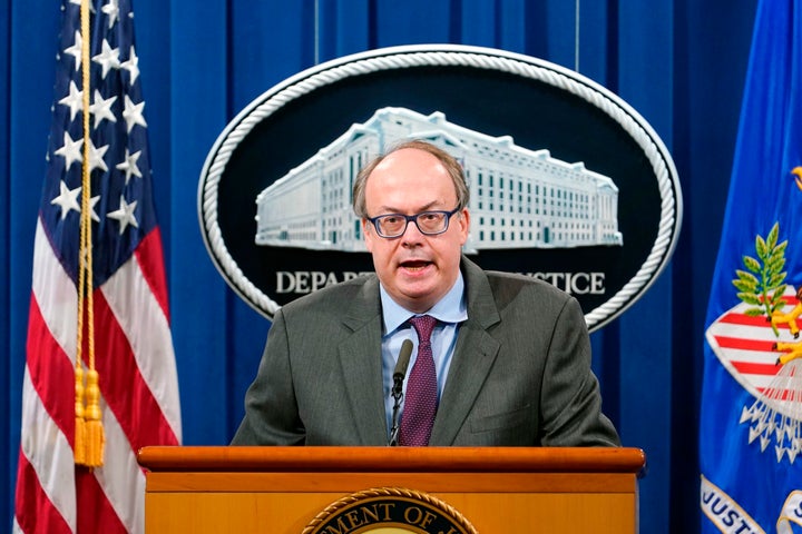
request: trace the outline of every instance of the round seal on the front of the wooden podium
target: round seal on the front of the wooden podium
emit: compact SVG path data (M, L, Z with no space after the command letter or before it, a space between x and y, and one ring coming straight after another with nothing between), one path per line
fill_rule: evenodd
M326 506L302 534L477 534L457 510L415 490L376 487Z

